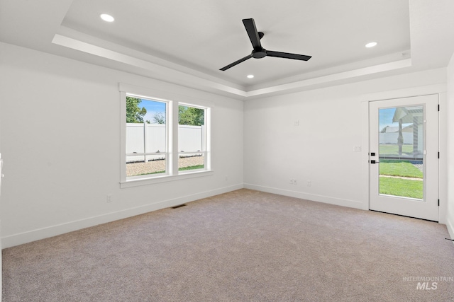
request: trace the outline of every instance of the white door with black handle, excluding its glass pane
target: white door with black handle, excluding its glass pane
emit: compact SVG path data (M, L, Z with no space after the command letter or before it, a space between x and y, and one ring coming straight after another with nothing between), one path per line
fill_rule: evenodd
M375 152L375 156L370 154L370 198L369 207L375 211L383 211L391 214L399 214L431 221L439 220L438 209L438 94L419 95L406 98L393 98L389 100L378 100L370 102L370 152ZM419 150L423 152L423 199L409 197L398 197L379 193L379 117L380 108L400 108L400 107L422 106L423 117L421 124L423 128L423 146ZM420 142L421 143L421 142ZM372 162L373 162L372 161Z

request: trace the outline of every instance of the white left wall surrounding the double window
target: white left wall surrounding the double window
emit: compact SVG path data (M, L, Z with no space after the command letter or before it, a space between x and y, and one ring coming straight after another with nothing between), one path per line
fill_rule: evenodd
M243 102L4 43L0 52L4 248L243 187ZM120 189L119 82L209 102L214 175Z

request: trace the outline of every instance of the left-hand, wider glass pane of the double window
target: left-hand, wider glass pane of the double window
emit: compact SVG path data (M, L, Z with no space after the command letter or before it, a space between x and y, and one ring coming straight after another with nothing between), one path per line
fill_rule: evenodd
M165 173L167 104L126 96L126 176Z

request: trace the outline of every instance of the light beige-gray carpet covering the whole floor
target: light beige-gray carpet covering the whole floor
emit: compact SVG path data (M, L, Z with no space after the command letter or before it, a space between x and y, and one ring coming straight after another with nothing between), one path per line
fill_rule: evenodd
M3 250L6 301L453 301L430 221L238 190ZM429 282L432 286L432 281Z

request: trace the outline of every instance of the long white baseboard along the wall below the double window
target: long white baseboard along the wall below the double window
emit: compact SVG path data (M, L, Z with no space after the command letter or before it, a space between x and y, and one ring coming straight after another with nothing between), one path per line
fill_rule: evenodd
M55 226L48 226L46 228L39 228L33 231L28 231L24 233L18 233L11 236L1 238L1 248L11 248L12 246L21 245L23 243L29 243L35 240L40 240L44 238L49 238L52 236L61 235L64 233L77 231L82 228L88 228L90 226L97 226L101 223L107 223L111 221L116 221L118 219L125 219L131 216L136 216L140 214L145 214L150 211L156 211L159 209L165 209L168 207L175 207L179 204L184 204L187 202L194 202L195 200L211 197L218 194L223 194L226 192L231 192L235 190L243 189L243 184L231 185L229 187L221 187L216 190L210 190L205 192L199 192L197 194L192 194L184 197L178 197L175 199L168 199L162 202L157 202L154 204L146 204L141 207L135 207L131 209L124 209L121 211L116 211L108 214L103 214L99 216L89 217L87 219L81 219L78 221L71 221L68 223L62 223Z

